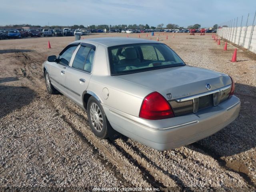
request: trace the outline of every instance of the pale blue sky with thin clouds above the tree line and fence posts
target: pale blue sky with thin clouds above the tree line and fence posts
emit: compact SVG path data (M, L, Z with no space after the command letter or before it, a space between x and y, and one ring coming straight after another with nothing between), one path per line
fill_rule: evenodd
M172 23L185 28L201 24L211 27L244 16L249 25L256 0L1 0L0 26L32 24L46 26L100 24Z

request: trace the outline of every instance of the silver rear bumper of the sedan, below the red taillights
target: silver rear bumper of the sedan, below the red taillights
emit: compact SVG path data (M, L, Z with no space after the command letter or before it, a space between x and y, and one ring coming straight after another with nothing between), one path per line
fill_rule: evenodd
M143 120L103 105L118 132L156 150L170 150L206 138L234 121L240 111L236 96L218 106L164 120Z

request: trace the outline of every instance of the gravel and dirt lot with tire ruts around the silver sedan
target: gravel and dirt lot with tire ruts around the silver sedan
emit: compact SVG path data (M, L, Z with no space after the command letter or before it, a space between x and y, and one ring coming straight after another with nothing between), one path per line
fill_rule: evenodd
M139 34L129 34L138 38ZM218 46L211 34L157 33L191 66L224 72L236 82L241 100L238 118L204 140L158 152L130 138L99 140L86 113L65 96L50 96L42 62L74 37L0 41L0 189L86 189L87 187L155 187L162 191L252 191L256 187L256 59L234 46ZM93 34L82 38L127 36ZM47 48L50 40L51 49ZM74 188L66 188L74 187ZM34 188L35 189L35 188Z

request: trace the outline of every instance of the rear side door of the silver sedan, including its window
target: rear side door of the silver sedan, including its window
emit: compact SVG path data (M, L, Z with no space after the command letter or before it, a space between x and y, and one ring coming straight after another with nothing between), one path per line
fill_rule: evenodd
M65 84L68 96L80 106L83 105L82 94L87 89L92 76L95 46L82 43L66 71Z

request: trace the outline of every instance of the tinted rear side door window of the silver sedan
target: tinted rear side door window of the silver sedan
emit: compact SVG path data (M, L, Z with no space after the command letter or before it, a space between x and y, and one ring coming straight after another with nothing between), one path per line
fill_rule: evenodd
M94 52L94 49L90 47L81 46L76 53L72 67L90 73L92 71Z

